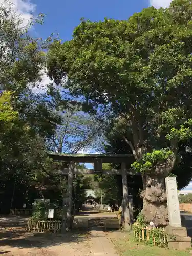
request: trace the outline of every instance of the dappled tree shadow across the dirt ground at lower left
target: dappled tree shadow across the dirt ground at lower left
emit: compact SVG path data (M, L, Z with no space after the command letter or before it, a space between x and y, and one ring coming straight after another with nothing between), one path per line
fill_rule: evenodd
M26 221L27 218L19 216L0 218L0 250L4 246L41 249L63 243L81 243L93 237L89 230L72 230L65 234L26 232ZM0 254L8 252L0 251Z

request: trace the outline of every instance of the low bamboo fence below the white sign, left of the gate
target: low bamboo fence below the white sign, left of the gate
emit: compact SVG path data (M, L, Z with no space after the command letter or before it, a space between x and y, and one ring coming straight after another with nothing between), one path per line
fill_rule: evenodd
M60 233L62 222L60 220L27 221L26 230L38 233Z

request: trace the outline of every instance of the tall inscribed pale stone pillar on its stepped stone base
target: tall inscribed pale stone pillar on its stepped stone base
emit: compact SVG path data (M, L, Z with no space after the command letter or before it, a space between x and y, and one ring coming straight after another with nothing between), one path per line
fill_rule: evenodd
M168 247L173 249L191 248L191 238L187 237L187 230L181 226L181 214L175 177L165 178L169 226L165 228Z

